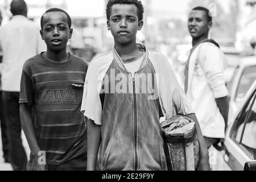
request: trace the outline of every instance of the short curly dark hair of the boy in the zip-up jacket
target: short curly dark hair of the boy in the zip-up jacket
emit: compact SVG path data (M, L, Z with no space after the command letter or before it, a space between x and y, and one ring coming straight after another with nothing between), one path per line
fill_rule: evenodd
M113 5L121 4L121 5L135 5L138 9L137 14L139 21L143 19L144 14L144 6L142 5L142 2L139 0L109 0L106 5L106 16L107 19L110 19L111 15L111 8Z

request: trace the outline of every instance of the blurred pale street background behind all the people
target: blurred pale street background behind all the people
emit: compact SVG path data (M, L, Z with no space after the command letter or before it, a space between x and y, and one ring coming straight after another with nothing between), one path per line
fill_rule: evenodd
M11 18L10 2L10 0L0 0L2 25ZM146 44L149 49L164 53L181 85L184 85L185 61L192 48L192 39L187 28L189 11L196 6L208 7L213 13L210 38L220 44L228 59L225 81L231 93L234 89L234 75L237 73L238 65L242 63L244 57L255 56L255 53L249 55L246 51L251 47L252 42L256 43L256 0L142 0L142 2L146 12L144 27L138 33L138 43ZM39 27L40 18L47 9L60 7L66 10L71 15L74 30L73 38L68 43L69 51L88 62L113 48L111 32L106 28L105 0L26 0L26 3L28 18L37 22ZM256 59L253 60L253 63L250 63L250 70L242 71L245 76L241 75L237 78L242 80L235 88L240 90L234 98L237 105L255 80ZM236 109L232 110L230 118L234 113ZM23 141L29 154L24 135ZM223 160L224 151L218 152L214 148L210 148L210 151L210 155L213 156L211 159L213 170L230 170ZM0 170L11 170L9 163L3 163L1 152L0 143Z

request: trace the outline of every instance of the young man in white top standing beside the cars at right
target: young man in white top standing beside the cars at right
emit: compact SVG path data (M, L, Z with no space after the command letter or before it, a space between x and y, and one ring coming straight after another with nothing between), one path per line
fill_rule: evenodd
M208 148L225 138L229 111L225 56L208 39L211 27L209 10L195 7L188 18L193 48L185 68L185 93L195 109Z

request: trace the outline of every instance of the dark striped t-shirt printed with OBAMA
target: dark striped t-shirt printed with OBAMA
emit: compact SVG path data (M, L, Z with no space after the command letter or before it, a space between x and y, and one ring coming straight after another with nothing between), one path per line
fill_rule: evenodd
M58 64L42 53L23 66L19 103L35 111L35 133L47 164L61 164L87 151L85 118L80 112L87 68L85 60L74 55Z

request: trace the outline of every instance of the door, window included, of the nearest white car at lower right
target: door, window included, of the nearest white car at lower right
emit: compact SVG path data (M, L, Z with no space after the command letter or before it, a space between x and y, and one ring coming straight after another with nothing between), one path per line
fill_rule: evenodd
M237 115L225 138L225 162L232 170L242 171L245 163L255 160L256 154L256 92Z

